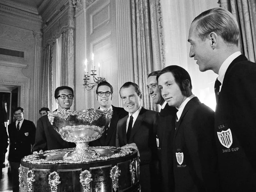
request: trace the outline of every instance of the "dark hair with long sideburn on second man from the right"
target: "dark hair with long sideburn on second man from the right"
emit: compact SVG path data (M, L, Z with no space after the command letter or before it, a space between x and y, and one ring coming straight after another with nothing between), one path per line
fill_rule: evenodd
M177 66L177 65L170 65L168 67L163 68L156 76L156 80L158 81L159 76L161 76L164 73L171 72L172 75L175 78L175 82L179 85L180 91L182 92L183 95L187 95L189 91L192 90L192 83L191 83L191 78L188 74L188 71L186 71L184 68ZM185 80L188 79L189 81L189 89L186 90L186 86L184 86Z

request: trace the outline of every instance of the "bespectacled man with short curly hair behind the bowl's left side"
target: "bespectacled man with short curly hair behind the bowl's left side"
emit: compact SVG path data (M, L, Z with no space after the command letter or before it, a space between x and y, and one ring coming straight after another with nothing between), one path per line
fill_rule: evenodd
M58 110L70 109L74 99L74 91L71 87L57 87L54 92ZM64 141L54 130L49 122L48 116L42 116L38 119L36 125L36 141L33 147L33 153L52 149L64 149L76 147L74 143Z

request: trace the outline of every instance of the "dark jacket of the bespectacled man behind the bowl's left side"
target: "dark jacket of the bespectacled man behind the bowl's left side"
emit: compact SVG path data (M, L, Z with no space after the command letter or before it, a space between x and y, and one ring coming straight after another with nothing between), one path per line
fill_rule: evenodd
M76 144L64 141L60 137L59 133L54 130L47 115L38 119L36 125L36 141L33 151L40 151L41 149L45 151L73 147L76 147Z

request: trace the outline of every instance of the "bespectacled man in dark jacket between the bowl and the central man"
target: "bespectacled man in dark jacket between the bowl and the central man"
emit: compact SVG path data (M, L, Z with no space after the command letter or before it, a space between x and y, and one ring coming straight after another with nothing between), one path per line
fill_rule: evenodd
M97 85L96 98L99 102L100 110L113 110L112 118L108 125L105 126L105 132L102 136L89 143L90 146L116 146L116 125L119 119L128 115L124 108L112 105L113 87L107 81L102 81Z

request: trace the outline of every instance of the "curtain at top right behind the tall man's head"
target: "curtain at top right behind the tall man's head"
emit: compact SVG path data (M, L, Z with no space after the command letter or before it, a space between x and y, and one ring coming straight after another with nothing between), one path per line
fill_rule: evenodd
M220 6L230 11L240 28L240 47L248 60L256 61L256 1L220 0Z

